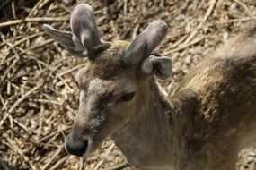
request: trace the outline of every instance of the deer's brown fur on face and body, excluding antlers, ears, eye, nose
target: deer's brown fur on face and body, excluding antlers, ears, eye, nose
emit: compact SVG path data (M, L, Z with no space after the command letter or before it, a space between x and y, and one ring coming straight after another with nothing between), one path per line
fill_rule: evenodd
M256 146L256 31L206 57L172 98L153 76L122 57L116 42L76 75L81 95L72 136L89 152L111 137L139 169L231 170L238 152ZM129 90L136 96L118 102Z

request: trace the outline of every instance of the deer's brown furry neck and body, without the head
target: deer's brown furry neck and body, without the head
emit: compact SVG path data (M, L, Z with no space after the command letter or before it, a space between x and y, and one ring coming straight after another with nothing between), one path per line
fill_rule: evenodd
M137 105L142 116L111 137L131 165L233 169L241 149L256 147L255 47L256 30L235 38L190 72L172 98L148 80Z

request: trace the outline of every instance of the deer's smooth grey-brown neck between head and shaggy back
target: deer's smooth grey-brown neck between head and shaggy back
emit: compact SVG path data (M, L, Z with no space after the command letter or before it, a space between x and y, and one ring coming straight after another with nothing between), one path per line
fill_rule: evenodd
M114 132L111 139L133 166L170 168L169 164L183 152L181 145L185 144L180 136L183 126L190 126L194 95L184 91L169 101L153 80L144 85L138 96L136 118Z

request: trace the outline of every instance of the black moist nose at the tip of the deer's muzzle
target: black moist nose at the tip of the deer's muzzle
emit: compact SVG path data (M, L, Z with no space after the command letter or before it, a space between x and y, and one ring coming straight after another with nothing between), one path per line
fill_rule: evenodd
M66 152L75 155L77 157L81 157L86 152L88 147L88 140L73 140L72 137L68 136L66 139Z

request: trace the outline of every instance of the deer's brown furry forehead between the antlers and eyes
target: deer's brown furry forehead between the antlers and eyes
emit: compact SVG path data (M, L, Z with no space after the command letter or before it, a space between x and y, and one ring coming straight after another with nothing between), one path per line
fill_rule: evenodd
M126 74L130 74L133 70L133 67L123 60L127 47L128 42L126 41L112 43L111 47L97 57L95 61L89 61L83 69L75 74L75 81L82 87L88 87L91 81L94 85L96 83L99 85L105 84L100 80L121 81L121 78L126 77Z

